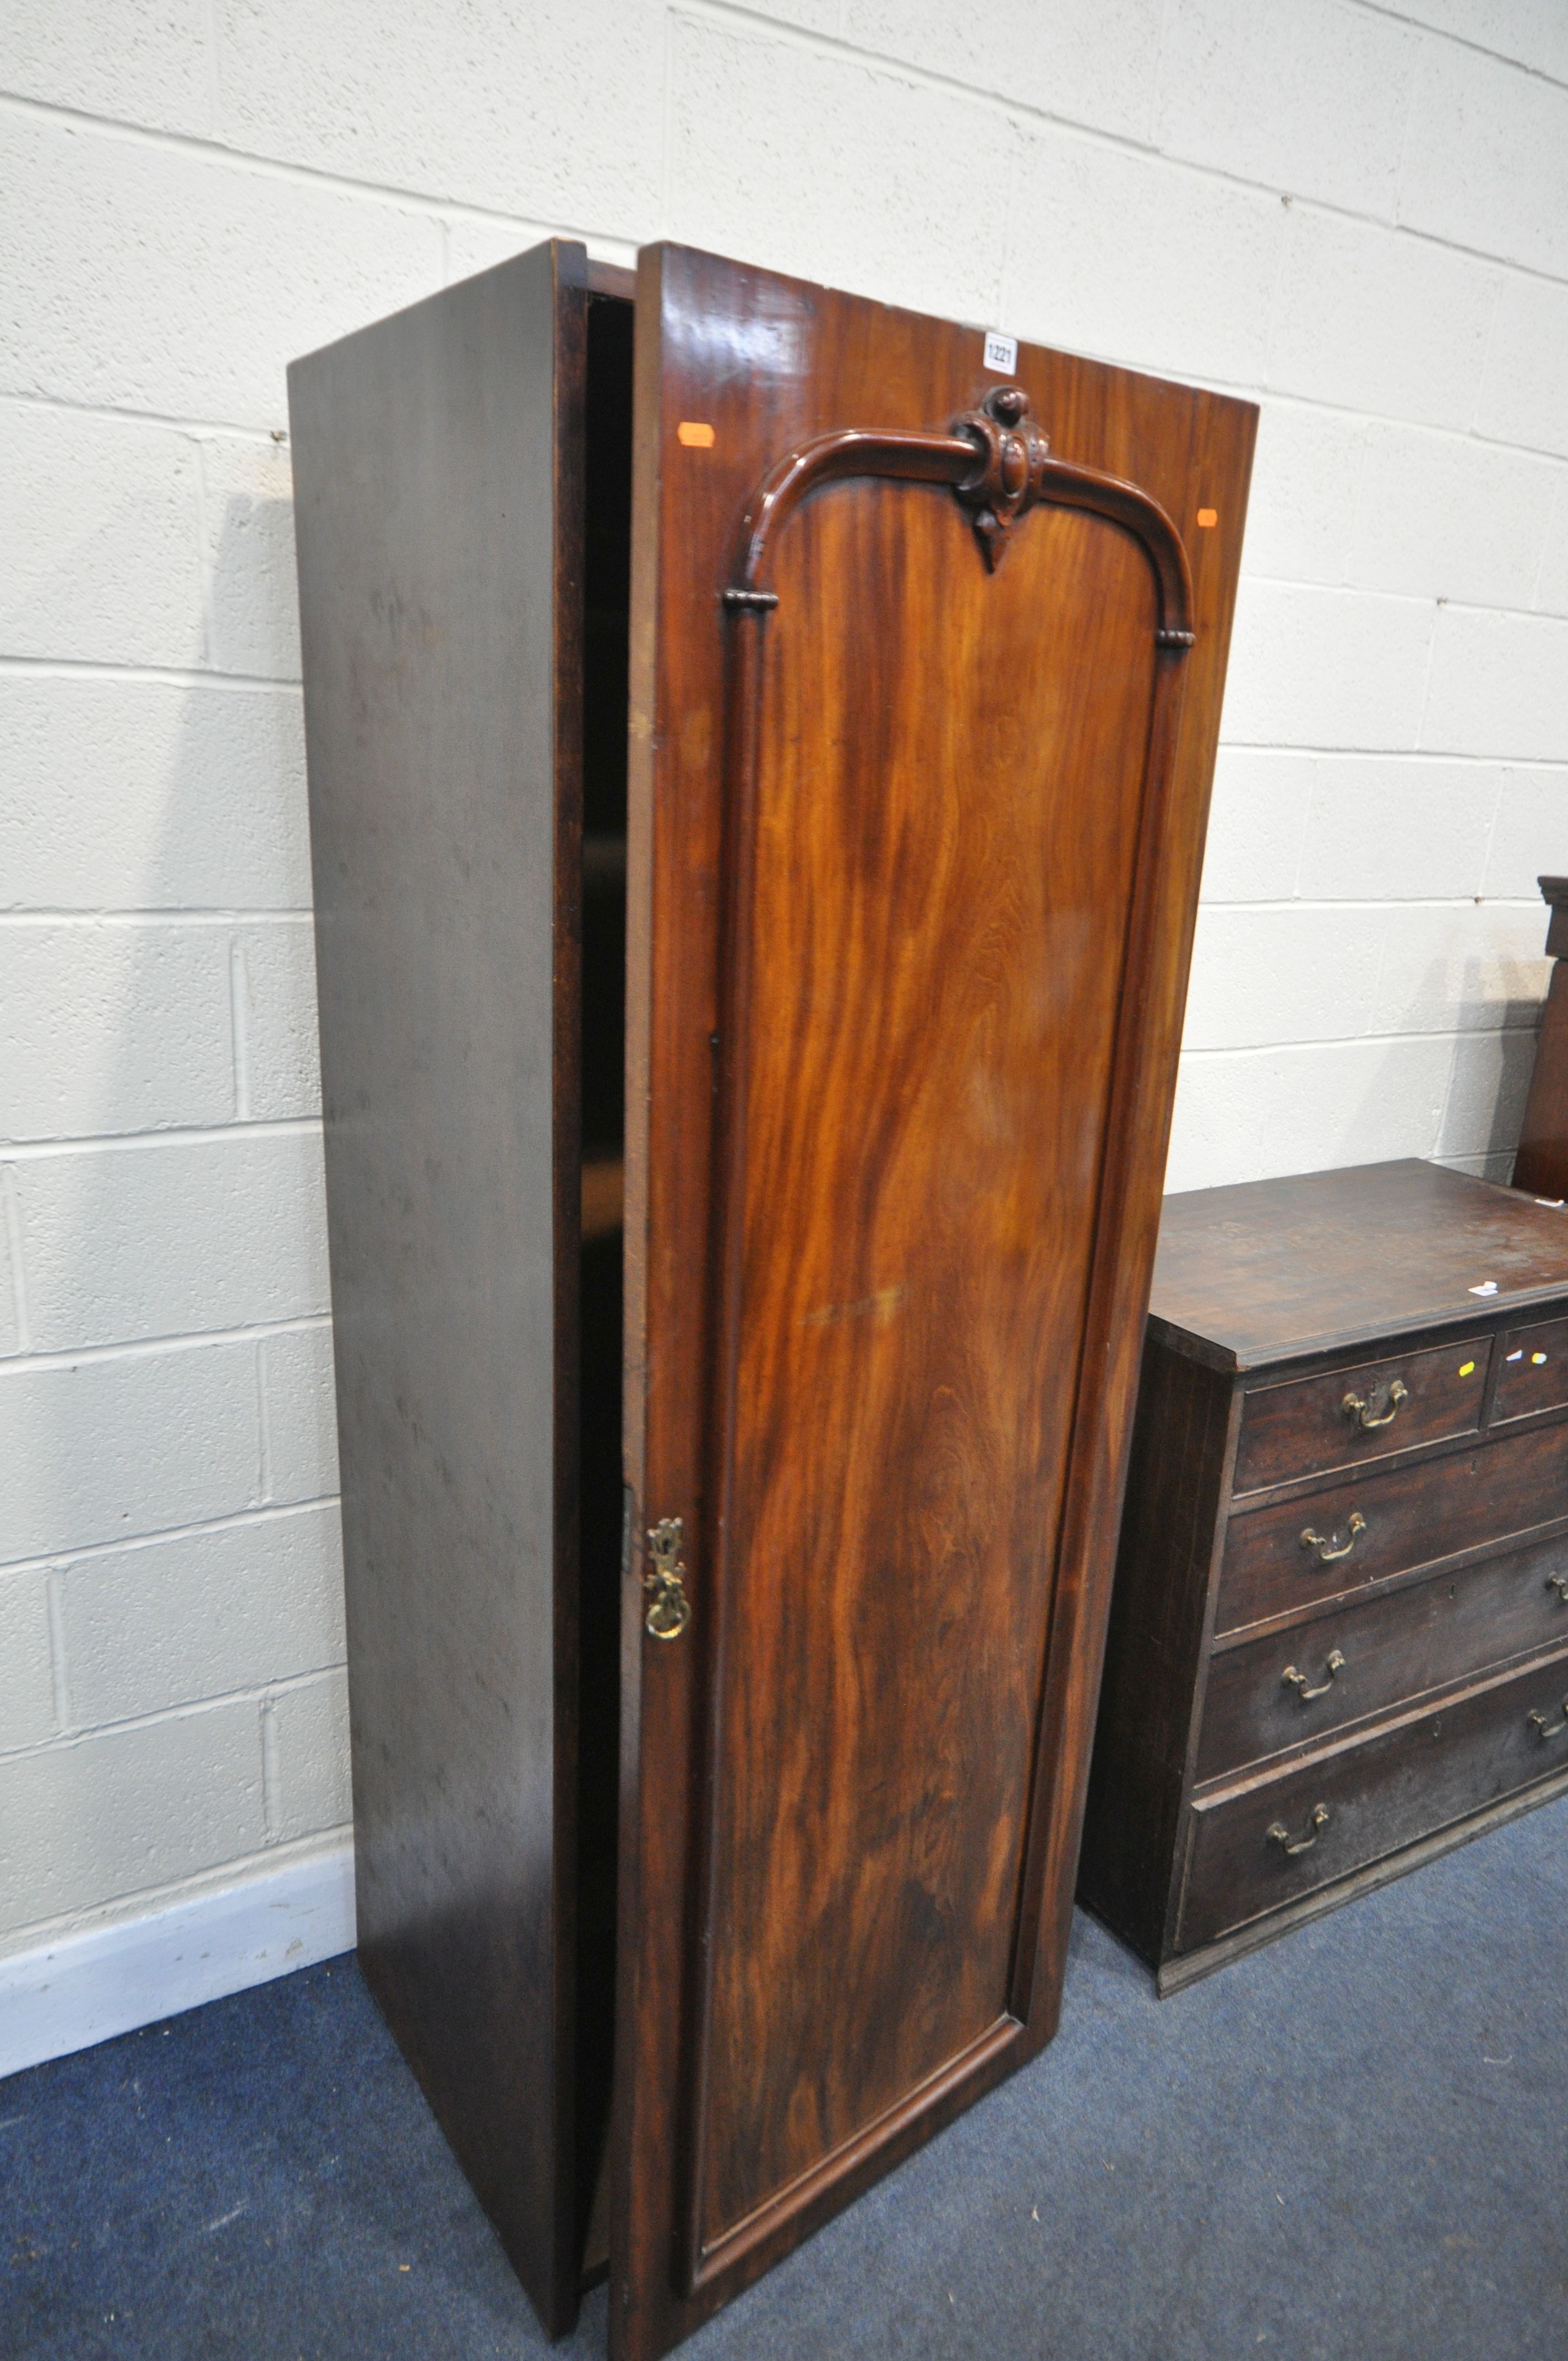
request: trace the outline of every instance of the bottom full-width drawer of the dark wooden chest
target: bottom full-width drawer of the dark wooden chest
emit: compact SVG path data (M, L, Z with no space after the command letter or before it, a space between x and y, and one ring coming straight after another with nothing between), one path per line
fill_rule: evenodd
M1568 1653L1193 1806L1176 1950L1568 1768Z

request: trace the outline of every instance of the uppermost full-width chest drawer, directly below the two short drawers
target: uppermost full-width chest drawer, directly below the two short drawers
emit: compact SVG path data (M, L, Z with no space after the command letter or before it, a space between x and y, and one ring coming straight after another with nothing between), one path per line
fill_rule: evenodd
M1226 1528L1216 1631L1337 1598L1386 1575L1568 1516L1568 1426L1452 1459L1348 1476Z

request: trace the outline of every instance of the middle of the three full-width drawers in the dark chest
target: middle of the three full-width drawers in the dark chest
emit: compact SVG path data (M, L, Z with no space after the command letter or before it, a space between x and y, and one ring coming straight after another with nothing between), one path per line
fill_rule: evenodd
M1209 1665L1197 1778L1554 1643L1568 1646L1568 1535L1223 1648Z

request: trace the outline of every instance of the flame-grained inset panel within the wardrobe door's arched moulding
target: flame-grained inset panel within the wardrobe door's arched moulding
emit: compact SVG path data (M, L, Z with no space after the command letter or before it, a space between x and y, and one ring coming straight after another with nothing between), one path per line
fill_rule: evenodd
M1155 673L1070 510L992 578L940 489L843 486L772 581L704 2252L1008 2009Z

